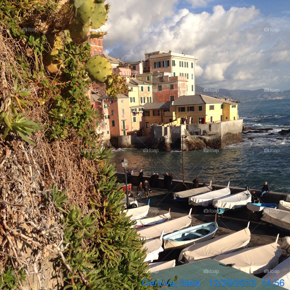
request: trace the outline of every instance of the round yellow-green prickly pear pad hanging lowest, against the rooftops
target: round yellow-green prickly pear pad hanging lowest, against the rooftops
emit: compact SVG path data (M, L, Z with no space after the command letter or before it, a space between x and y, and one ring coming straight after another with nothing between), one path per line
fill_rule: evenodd
M85 64L89 77L96 82L103 83L112 74L111 63L102 56L92 56Z

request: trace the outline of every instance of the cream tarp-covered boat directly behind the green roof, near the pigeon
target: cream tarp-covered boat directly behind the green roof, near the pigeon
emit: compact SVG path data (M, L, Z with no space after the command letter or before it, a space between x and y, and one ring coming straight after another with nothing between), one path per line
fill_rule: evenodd
M223 264L236 264L233 268L256 275L276 267L279 264L279 257L281 255L282 250L279 244L271 243L229 254L218 255L214 260Z

